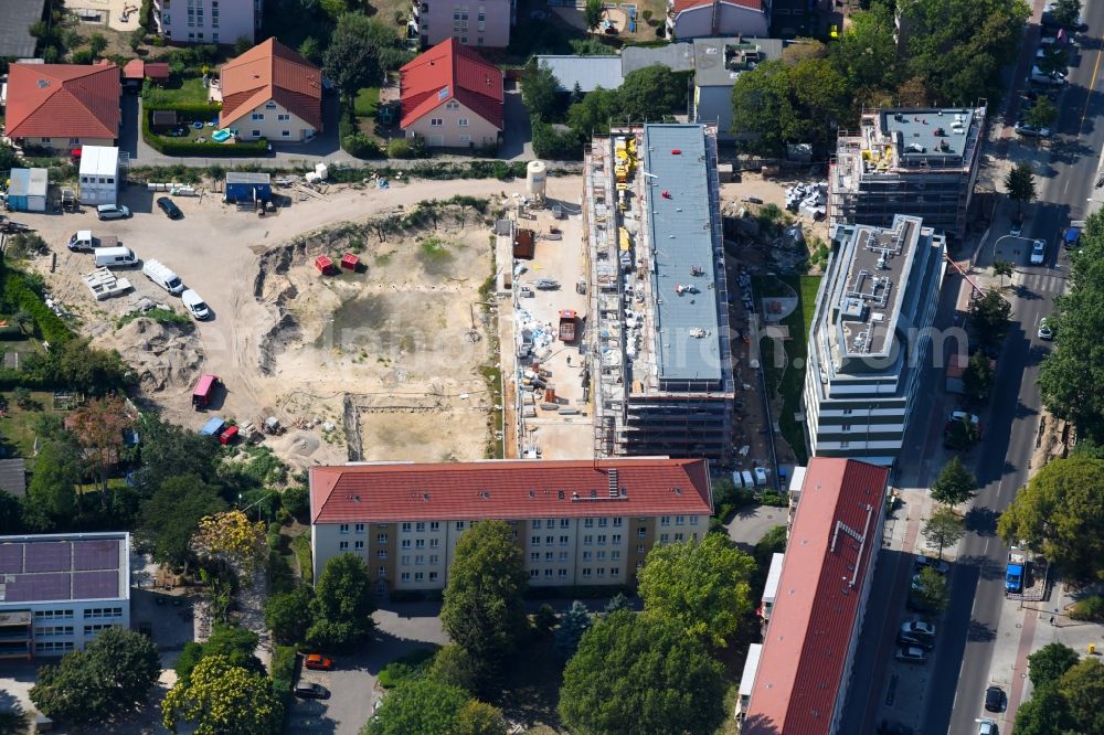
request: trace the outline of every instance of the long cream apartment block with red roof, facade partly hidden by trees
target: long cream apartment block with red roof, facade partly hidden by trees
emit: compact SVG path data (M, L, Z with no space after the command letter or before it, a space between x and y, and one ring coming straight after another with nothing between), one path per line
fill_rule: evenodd
M444 587L459 534L492 519L514 528L531 584L633 584L654 545L702 539L711 512L702 459L310 468L316 578L351 552L388 588Z

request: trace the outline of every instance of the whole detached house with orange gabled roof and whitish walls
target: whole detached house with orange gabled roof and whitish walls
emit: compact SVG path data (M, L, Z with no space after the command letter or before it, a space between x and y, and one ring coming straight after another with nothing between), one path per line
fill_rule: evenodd
M302 141L322 129L322 73L276 39L222 67L219 124L244 140Z

